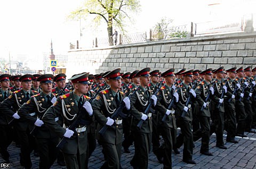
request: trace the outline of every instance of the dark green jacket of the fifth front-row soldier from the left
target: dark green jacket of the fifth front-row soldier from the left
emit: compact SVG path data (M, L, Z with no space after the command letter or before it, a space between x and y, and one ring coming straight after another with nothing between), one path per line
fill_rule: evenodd
M139 121L141 120L142 113L150 102L151 92L146 88L145 91L141 86L135 91L135 94L131 96L131 114L133 115L133 121L131 125L131 130L134 132L151 133L152 132L152 112L149 112L148 118L143 121L141 129L137 127ZM153 105L154 106L154 105Z

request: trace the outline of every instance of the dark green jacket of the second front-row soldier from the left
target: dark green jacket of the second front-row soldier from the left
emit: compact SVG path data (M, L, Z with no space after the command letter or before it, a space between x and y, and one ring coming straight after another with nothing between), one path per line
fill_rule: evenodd
M53 98L54 95L51 94L51 98ZM42 120L42 117L44 113L47 111L47 109L52 105L48 104L46 102L46 98L44 97L43 91L41 91L39 94L32 96L26 104L23 104L19 111L18 115L20 116L20 119L26 120L30 124L34 124L38 119ZM35 116L31 116L29 114L35 112ZM55 133L49 130L44 124L42 126L36 126L36 131L34 132L34 135L36 138L53 138L57 137Z

